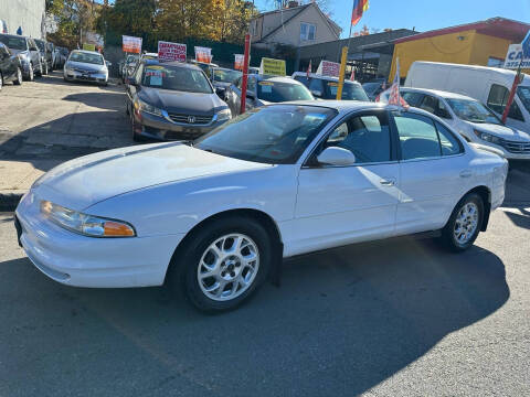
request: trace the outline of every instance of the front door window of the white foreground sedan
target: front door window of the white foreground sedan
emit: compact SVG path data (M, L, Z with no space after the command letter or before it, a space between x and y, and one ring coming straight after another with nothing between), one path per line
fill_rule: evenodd
M348 149L359 164L390 161L390 129L386 114L367 114L349 118L329 135L324 144L324 148L327 147Z

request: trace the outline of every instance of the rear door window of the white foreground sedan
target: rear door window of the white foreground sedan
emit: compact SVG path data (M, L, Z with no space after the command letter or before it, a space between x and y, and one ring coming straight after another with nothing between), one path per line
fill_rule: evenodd
M431 119L412 114L393 115L403 160L441 157L438 135Z

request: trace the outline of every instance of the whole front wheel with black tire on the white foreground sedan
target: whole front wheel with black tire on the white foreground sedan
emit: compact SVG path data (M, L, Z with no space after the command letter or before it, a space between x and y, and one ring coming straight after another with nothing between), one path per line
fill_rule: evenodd
M182 244L171 259L168 281L206 313L232 310L250 299L266 280L274 258L269 234L245 216L208 223ZM212 276L205 271L209 266L215 268Z

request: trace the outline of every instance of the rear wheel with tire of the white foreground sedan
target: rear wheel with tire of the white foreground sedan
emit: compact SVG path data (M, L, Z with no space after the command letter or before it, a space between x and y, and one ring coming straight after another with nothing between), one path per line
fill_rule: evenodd
M456 253L468 249L480 232L483 219L483 198L476 193L465 195L456 204L449 221L442 229L442 242Z

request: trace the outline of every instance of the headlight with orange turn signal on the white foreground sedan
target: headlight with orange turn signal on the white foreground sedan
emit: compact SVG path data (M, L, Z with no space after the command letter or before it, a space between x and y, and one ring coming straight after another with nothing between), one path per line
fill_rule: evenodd
M135 237L127 222L82 214L49 201L41 201L41 214L68 230L89 237Z

